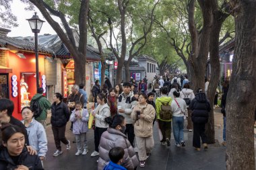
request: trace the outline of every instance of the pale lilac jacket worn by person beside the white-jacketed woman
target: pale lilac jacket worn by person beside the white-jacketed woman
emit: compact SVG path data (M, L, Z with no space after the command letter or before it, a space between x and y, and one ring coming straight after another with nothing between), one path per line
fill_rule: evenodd
M79 114L82 115L81 119L77 119L75 117L77 112L75 110L72 111L70 116L70 121L73 122L73 134L81 134L88 132L88 121L89 121L89 114L87 109L82 109Z

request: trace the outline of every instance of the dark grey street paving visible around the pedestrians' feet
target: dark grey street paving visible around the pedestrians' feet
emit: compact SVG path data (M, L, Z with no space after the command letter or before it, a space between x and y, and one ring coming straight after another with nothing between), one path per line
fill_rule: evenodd
M174 138L172 136L170 147L162 146L158 137L158 128L156 124L154 126L154 140L155 146L152 151L152 155L148 159L147 170L222 170L225 168L225 153L226 147L222 146L222 114L220 108L216 109L214 114L216 121L216 144L210 144L207 151L197 152L192 146L193 132L185 132L186 146L184 148L177 148L174 146ZM68 128L70 124L67 124L67 139L73 140L73 134ZM71 144L70 151L63 151L63 154L59 157L53 157L52 153L55 152L55 144L53 140L53 132L51 131L51 125L46 128L47 138L49 139L49 151L46 155L46 161L44 163L45 169L56 170L97 170L98 157L90 157L90 154L75 156L76 146L75 143ZM88 136L88 150L92 153L94 150L94 135L93 130L89 130ZM64 146L64 145L63 145ZM138 167L137 169L143 169Z

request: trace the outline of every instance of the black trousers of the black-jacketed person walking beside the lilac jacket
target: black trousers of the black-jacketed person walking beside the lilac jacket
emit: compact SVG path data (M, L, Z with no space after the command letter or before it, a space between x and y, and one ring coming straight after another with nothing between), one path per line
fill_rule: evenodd
M55 140L55 146L59 151L61 151L61 142L63 142L63 144L69 143L67 141L67 138L65 137L66 125L61 127L52 125L52 130L53 130L53 137Z

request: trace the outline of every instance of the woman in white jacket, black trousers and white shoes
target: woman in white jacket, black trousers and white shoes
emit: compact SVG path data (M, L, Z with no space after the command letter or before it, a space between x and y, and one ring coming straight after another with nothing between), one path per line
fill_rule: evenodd
M108 124L105 118L110 116L110 108L108 106L106 96L103 93L99 93L97 96L97 108L92 112L92 116L95 118L95 129L94 129L94 146L95 150L91 154L91 157L96 157L98 153L98 145L100 144L100 137L103 132L108 128Z

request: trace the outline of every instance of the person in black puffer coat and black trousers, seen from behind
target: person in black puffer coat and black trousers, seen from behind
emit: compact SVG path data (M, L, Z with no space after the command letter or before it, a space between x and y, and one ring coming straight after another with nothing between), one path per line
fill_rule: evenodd
M200 151L200 137L203 142L203 147L207 148L207 138L205 135L205 124L208 122L209 112L211 110L210 102L207 99L202 89L197 90L195 99L189 104L189 108L192 110L193 121L193 146L197 151Z

